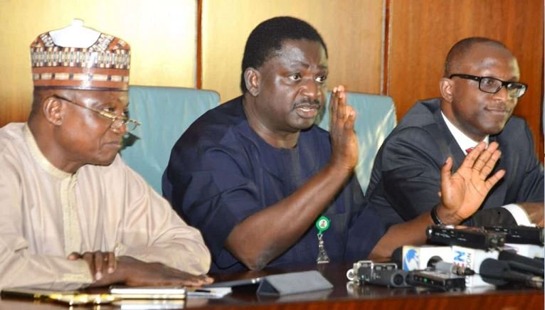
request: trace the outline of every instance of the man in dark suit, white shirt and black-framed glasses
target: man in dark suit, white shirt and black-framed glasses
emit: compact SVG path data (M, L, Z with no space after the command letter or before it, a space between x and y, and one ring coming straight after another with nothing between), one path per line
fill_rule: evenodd
M497 141L502 158L494 171L506 175L465 224L542 226L543 167L526 122L511 115L527 89L518 81L517 59L502 43L487 38L456 43L439 83L442 97L417 102L379 150L366 193L371 208L387 223L433 213L448 156L457 169L477 143Z

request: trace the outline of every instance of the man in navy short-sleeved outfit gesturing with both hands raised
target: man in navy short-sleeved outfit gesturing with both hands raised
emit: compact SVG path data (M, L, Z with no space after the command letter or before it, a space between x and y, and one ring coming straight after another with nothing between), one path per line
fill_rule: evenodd
M430 213L386 231L366 208L344 87L333 88L330 132L314 126L328 72L314 27L290 16L263 21L246 41L243 94L203 114L174 145L163 193L203 233L214 272L385 260L400 245L425 242ZM496 148L480 143L453 174L447 161L437 208L445 223L474 213L502 178L487 178Z

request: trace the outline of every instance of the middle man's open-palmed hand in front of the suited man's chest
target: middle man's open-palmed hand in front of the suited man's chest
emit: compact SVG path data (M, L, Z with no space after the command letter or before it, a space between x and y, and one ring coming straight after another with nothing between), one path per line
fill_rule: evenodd
M488 147L480 142L452 175L453 159L447 159L441 169L440 195L448 216L455 222L460 223L475 213L490 189L504 176L505 171L500 170L488 177L501 154L497 142Z

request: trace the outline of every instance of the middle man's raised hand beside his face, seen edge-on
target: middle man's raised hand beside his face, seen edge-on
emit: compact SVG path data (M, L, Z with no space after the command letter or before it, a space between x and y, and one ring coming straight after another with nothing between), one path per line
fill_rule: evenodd
M332 144L331 163L352 171L358 162L358 139L354 132L356 111L346 105L346 93L337 86L329 100L329 135Z

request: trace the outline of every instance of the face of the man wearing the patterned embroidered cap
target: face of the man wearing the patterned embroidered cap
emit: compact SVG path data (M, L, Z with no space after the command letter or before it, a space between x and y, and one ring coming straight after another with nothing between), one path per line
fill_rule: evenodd
M125 125L112 129L111 119L78 105L122 116L127 109L127 92L65 90L59 95L74 102L60 100L65 117L53 138L65 151L66 160L82 166L111 164L122 146Z

